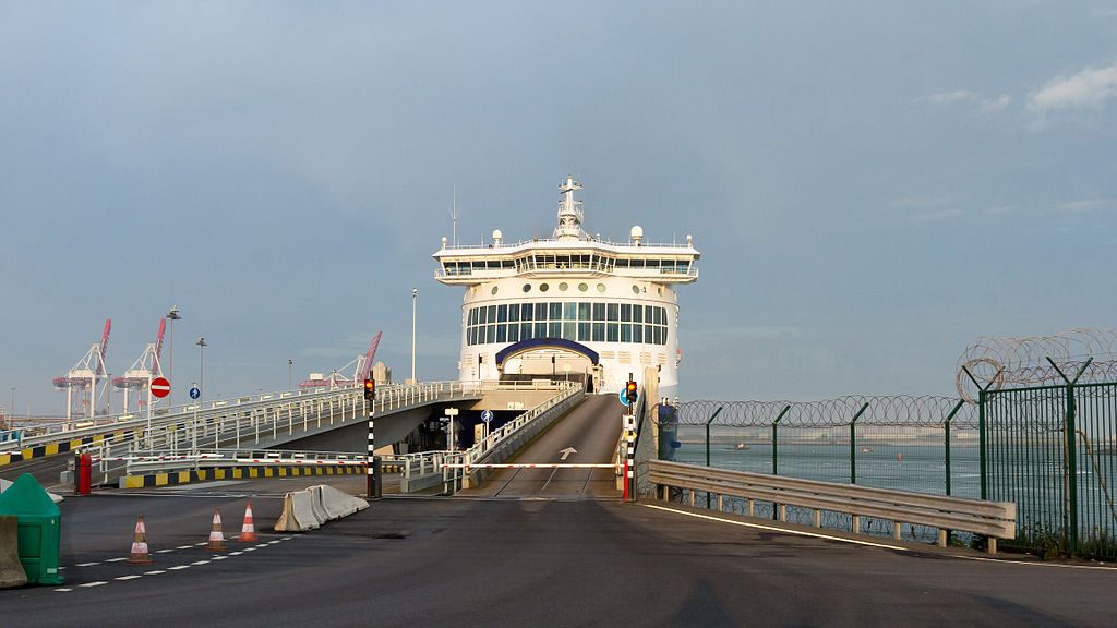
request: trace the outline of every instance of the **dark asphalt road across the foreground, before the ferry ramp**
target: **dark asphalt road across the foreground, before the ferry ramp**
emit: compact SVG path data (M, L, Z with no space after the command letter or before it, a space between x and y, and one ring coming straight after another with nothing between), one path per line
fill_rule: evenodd
M0 626L1117 624L1117 570L867 546L732 515L575 499L574 485L543 495L553 479L543 489L535 478L533 493L525 478L522 498L392 497L306 534L268 531L284 491L321 480L67 499L66 584L0 591ZM359 477L332 480L363 489ZM260 542L207 552L213 506L231 531L249 494ZM140 512L155 561L146 568L114 561L127 555Z

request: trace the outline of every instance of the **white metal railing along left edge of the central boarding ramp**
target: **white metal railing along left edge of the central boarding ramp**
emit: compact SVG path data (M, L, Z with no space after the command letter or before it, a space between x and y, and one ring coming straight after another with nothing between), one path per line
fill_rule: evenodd
M524 384L519 388L541 386L537 382L516 383ZM469 449L452 453L423 451L395 457L393 462L399 462L403 470L400 492L421 491L437 484L442 484L448 492L457 491L458 486L467 482L466 478L470 475L466 467L485 460L503 460L531 437L538 434L542 427L550 424L550 420L546 419L553 419L585 394L583 386L579 382L554 381L542 386L556 390L557 394L491 431ZM545 419L544 425L536 421L541 417ZM437 482L432 478L436 474L440 475Z

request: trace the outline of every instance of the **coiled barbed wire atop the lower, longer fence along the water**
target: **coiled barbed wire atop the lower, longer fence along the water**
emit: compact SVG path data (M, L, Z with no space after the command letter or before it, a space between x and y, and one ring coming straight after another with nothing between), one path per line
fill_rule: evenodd
M714 412L716 426L780 427L859 426L942 427L954 412L952 426L976 427L977 412L971 405L957 408L952 397L907 394L892 397L847 396L821 401L714 401L697 400L678 408L679 425L705 426ZM720 409L720 411L718 411Z

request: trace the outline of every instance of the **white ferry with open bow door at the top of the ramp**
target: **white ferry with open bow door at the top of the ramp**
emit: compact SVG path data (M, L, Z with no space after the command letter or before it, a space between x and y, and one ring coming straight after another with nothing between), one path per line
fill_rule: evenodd
M651 367L659 396L672 397L681 356L675 286L698 279L699 253L689 235L684 245L647 244L640 226L627 242L591 237L574 198L581 189L572 177L558 187L553 238L508 244L499 229L484 245L442 238L436 279L466 288L459 378L576 380L617 393Z

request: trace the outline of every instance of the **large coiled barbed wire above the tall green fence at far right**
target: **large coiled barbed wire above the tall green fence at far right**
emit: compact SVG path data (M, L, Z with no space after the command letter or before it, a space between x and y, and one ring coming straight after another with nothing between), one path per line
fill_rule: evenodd
M1063 374L1080 371L1079 383L1117 379L1117 333L1076 327L1049 336L983 336L958 358L955 386L962 399L975 403L982 388L1061 384Z

